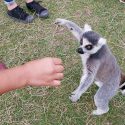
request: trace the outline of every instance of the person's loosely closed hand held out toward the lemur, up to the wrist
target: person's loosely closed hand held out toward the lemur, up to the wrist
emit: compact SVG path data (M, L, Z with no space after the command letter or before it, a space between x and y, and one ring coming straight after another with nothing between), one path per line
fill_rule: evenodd
M59 86L63 78L62 61L59 58L43 58L23 65L26 85Z

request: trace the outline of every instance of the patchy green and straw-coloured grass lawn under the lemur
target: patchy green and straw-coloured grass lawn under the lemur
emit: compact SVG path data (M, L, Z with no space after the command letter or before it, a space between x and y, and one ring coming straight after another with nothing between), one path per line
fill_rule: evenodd
M17 1L26 11L23 0ZM125 71L125 4L119 0L43 0L50 11L46 20L32 24L13 22L0 2L0 59L8 67L46 56L60 57L65 78L58 89L27 87L0 96L0 125L125 125L125 97L120 93L103 116L91 116L95 109L92 86L77 103L68 99L78 86L82 64L74 37L56 18L66 18L83 27L90 24L102 34Z

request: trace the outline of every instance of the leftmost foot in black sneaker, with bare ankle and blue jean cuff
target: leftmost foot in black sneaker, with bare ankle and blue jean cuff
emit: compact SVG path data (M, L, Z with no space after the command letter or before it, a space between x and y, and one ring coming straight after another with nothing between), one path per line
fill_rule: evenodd
M7 14L14 20L24 23L31 23L33 21L34 17L27 14L14 0L4 0L4 2L7 5Z

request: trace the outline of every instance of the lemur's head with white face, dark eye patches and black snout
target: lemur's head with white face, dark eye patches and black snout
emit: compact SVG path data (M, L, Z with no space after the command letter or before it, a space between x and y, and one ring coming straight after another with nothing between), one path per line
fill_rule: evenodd
M79 54L94 54L96 53L104 44L106 40L101 38L99 34L93 31L87 31L83 33L80 40L80 47L77 49Z

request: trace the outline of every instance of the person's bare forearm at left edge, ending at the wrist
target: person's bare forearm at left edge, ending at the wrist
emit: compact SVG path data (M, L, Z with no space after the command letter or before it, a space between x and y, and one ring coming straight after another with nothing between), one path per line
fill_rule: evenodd
M26 85L23 66L6 69L0 72L0 94L22 88Z

